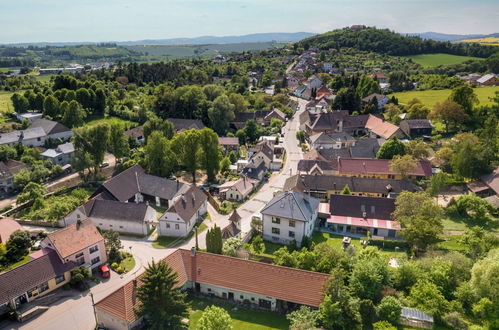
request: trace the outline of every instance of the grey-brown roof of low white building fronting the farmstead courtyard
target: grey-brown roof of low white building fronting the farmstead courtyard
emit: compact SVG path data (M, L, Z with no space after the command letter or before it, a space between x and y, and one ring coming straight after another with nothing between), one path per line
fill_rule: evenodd
M143 223L151 207L144 203L91 199L79 209L87 217Z

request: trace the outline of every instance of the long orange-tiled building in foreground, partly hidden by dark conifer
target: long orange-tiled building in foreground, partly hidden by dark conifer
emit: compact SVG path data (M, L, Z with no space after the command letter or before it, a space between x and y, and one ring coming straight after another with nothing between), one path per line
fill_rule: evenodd
M318 308L330 277L195 249L178 249L163 260L178 274L175 288L282 313L300 305ZM128 330L142 324L134 312L140 304L136 296L140 278L94 305L100 327Z

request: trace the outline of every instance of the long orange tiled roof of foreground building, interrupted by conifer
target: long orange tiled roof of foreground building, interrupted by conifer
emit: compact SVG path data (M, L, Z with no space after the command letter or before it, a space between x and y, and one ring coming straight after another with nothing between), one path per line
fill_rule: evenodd
M177 287L187 281L274 297L318 307L324 299L324 286L330 275L276 266L234 257L178 249L165 260L178 274ZM236 279L236 280L235 280ZM137 281L140 286L140 278ZM134 322L139 305L133 281L128 282L95 307L117 318Z

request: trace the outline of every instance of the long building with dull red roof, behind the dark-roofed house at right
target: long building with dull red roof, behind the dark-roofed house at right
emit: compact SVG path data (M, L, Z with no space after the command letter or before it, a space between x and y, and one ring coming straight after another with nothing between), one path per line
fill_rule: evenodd
M338 160L338 175L355 176L380 179L402 179L400 173L390 169L390 159L368 159L368 158L340 158ZM420 180L432 175L431 163L421 160L416 163L416 168L407 176L410 179Z

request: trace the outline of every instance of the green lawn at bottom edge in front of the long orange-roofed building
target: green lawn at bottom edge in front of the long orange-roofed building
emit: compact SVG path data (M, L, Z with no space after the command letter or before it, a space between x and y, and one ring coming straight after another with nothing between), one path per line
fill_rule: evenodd
M189 301L191 302L189 329L196 329L203 310L209 305L217 305L225 309L232 318L232 327L234 330L288 329L289 326L286 316L278 313L235 306L229 303L214 302L197 297L189 297Z

